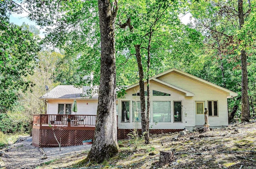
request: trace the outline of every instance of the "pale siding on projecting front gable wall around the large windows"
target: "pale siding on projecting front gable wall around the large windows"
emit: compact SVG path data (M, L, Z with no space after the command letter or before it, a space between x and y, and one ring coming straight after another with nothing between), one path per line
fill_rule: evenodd
M146 90L146 85L144 86ZM153 96L153 90L157 90L160 92L165 92L171 94L171 96ZM127 94L125 98L119 99L119 103L121 101L130 100L130 119L132 119L132 101L139 101L140 96L132 96L132 94L139 92L139 86L135 86L134 88L130 88L126 90ZM146 100L147 96L145 96ZM173 116L173 101L182 101L183 109L182 109L182 122L174 123ZM171 122L158 122L155 124L153 122L153 101L170 101L171 103ZM122 123L121 122L121 106L118 105L119 114L118 114L118 128L120 129L133 129L134 127L141 128L140 122L130 122L130 123ZM184 116L185 112L187 116ZM180 92L176 89L170 88L168 86L162 85L156 81L150 81L150 125L152 129L183 129L186 126L194 126L194 102L191 97L185 97L183 92Z

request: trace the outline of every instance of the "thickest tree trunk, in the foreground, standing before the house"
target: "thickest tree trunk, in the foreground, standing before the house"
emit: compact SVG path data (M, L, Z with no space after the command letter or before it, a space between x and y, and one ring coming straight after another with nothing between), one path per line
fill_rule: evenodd
M116 57L114 20L116 8L109 0L98 0L101 38L100 87L97 122L92 148L87 160L100 163L118 153L116 124Z

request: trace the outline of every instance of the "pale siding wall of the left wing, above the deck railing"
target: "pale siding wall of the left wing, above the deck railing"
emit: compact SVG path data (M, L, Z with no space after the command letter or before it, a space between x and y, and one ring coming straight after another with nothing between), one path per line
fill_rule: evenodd
M58 104L68 103L73 104L74 100L48 100L47 114L58 114ZM88 102L88 104L86 104ZM76 114L96 115L98 100L76 100L77 112ZM74 114L72 112L72 114Z

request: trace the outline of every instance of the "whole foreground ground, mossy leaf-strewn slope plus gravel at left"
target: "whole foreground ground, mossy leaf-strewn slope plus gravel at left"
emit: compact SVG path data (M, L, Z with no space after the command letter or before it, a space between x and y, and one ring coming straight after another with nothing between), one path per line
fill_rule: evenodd
M31 138L0 149L1 169L78 168L90 147L38 149ZM125 169L256 169L256 122L234 124L209 132L187 131L150 135L150 144L142 139L120 140L119 154L94 168ZM158 166L160 151L173 151L175 160ZM80 166L82 167L82 166ZM89 169L90 167L82 167Z

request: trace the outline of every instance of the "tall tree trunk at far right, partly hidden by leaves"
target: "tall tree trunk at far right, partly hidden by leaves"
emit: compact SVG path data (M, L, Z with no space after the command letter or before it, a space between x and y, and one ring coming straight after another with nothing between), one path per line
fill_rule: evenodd
M243 0L238 0L238 18L240 29L244 25ZM247 75L247 57L246 51L241 50L241 67L242 67L242 114L241 122L250 121L250 108L248 97L248 75Z

